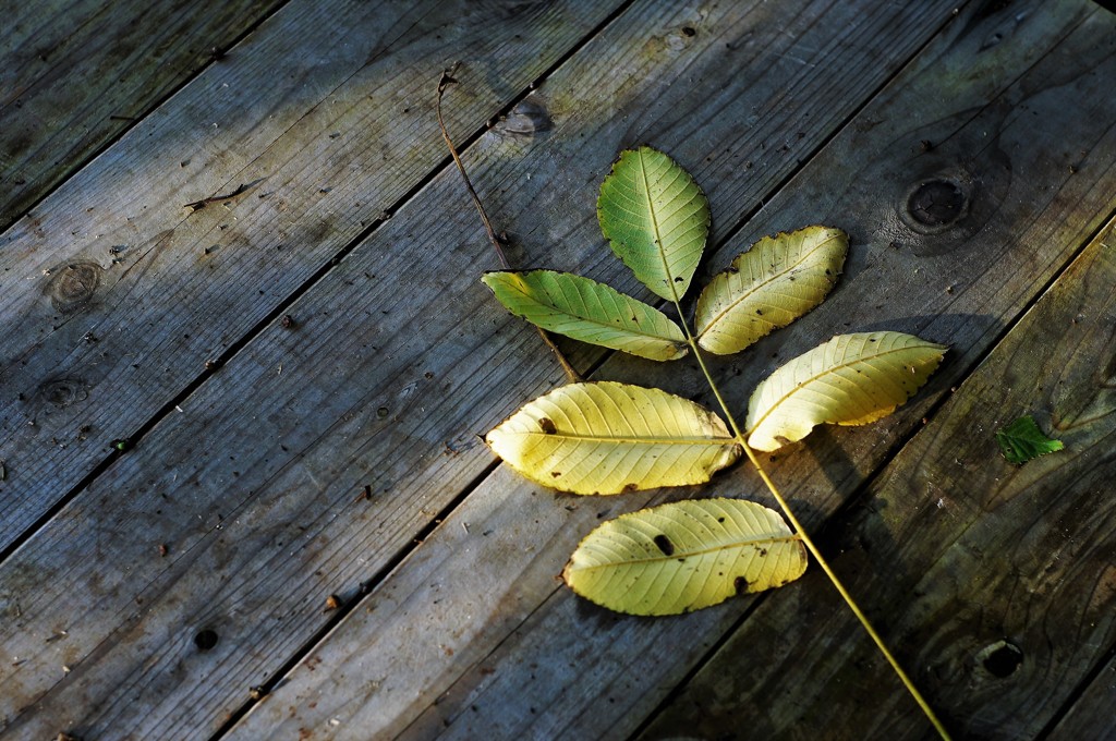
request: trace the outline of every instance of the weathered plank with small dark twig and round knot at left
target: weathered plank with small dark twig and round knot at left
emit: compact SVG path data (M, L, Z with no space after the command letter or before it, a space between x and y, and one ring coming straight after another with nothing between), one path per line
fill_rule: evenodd
M0 238L0 549L444 161L443 66L461 136L608 8L512 10L291 2Z

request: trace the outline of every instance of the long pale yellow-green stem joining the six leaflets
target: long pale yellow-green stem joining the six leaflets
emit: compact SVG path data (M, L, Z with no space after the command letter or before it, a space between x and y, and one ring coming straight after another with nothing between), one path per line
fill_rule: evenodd
M713 392L713 396L716 397L716 403L721 406L721 411L729 421L729 426L732 429L733 435L735 435L737 443L744 450L744 454L748 455L748 460L752 462L752 465L756 468L756 472L759 473L760 479L763 481L764 485L767 485L768 491L771 492L776 502L779 503L779 508L782 510L783 514L787 516L787 519L790 521L795 532L802 539L802 543L806 546L807 550L810 551L810 555L814 556L818 566L820 566L821 570L826 572L826 576L829 577L829 581L833 583L834 587L837 589L837 594L841 596L845 604L848 605L849 609L853 610L853 614L856 615L856 618L860 620L860 625L864 626L865 632L867 632L868 636L876 644L879 653L882 653L884 658L887 660L887 663L891 664L892 670L894 670L895 674L899 677L899 681L903 682L903 686L905 686L907 692L911 693L911 696L914 697L914 701L918 704L923 714L926 715L926 719L934 726L934 730L937 731L937 734L945 741L949 741L950 733L945 730L945 725L943 725L942 721L939 720L937 715L930 706L930 703L927 703L926 699L922 696L921 692L918 692L918 687L914 685L914 682L910 676L907 676L907 673L903 671L898 660L895 658L891 649L887 647L887 644L884 643L883 637L872 625L872 622L868 620L868 616L864 614L864 610L862 610L859 605L856 604L856 600L853 599L853 595L849 594L848 589L845 588L845 585L837 578L837 574L834 572L833 568L830 568L829 562L826 560L825 556L821 555L821 551L818 549L817 545L815 545L814 539L810 538L809 533L806 532L806 528L804 528L802 523L798 521L797 517L795 517L795 512L790 509L790 504L787 503L787 500L783 499L782 494L779 492L779 488L775 485L775 482L771 481L767 471L764 471L763 466L760 465L760 462L756 456L756 451L753 451L748 444L743 431L741 431L740 425L737 424L737 420L732 416L732 412L729 411L729 405L725 404L724 397L721 396L721 391L713 382L713 375L709 372L709 367L705 365L705 360L702 357L701 349L698 346L698 341L694 339L693 333L690 331L689 323L685 319L685 315L682 312L682 304L679 301L676 293L674 298L674 307L679 311L679 321L682 325L682 330L686 335L686 341L690 344L690 349L693 350L694 357L698 359L698 365L701 367L701 372L705 376L706 383L709 383L710 391Z

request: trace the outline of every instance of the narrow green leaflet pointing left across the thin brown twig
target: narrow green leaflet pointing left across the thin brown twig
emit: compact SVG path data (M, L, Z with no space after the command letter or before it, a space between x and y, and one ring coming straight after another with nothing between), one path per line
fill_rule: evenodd
M489 272L481 280L509 311L559 335L652 360L687 352L665 314L595 280L554 270Z

